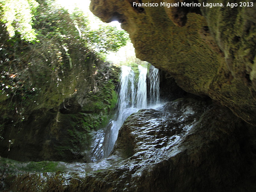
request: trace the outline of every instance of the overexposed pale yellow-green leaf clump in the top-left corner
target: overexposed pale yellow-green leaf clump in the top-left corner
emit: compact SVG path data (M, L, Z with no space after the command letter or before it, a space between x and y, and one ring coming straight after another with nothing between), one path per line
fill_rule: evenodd
M15 32L21 39L29 42L36 39L35 29L32 29L32 17L38 3L35 0L2 0L0 1L0 20L7 27L10 37Z

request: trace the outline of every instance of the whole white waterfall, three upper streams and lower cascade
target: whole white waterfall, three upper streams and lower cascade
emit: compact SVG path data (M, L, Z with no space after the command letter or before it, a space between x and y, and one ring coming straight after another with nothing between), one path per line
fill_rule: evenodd
M117 119L108 124L105 132L99 131L96 134L91 158L93 162L109 156L116 142L118 131L126 118L142 108L147 108L147 68L140 65L138 68L137 91L135 89L135 74L132 68L127 66L121 68ZM152 105L159 104L158 69L151 66L148 78L150 82L150 107L154 108Z

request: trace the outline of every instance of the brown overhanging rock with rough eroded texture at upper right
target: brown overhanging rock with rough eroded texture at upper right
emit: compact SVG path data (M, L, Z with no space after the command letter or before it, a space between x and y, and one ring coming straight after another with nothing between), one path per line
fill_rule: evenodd
M133 2L159 6L133 7ZM136 56L167 71L182 89L208 95L256 125L255 0L252 7L232 1L238 3L234 8L226 7L228 0L199 0L200 8L161 7L161 2L178 1L92 0L90 9L104 22L121 22Z

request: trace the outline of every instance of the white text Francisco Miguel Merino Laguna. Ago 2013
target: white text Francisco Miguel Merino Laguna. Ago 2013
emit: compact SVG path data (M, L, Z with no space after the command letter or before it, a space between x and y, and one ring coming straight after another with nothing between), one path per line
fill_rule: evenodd
M160 7L200 7L200 6L203 6L203 7L224 7L225 5L222 4L222 3L186 3L186 2L177 2L177 3L167 3L167 2L161 2L160 4L158 3L136 3L136 2L133 2L132 6L133 7L158 7L160 5ZM226 4L226 7L237 7L237 6L240 6L240 7L252 7L253 6L253 3L252 2L240 2L240 3L227 3Z

